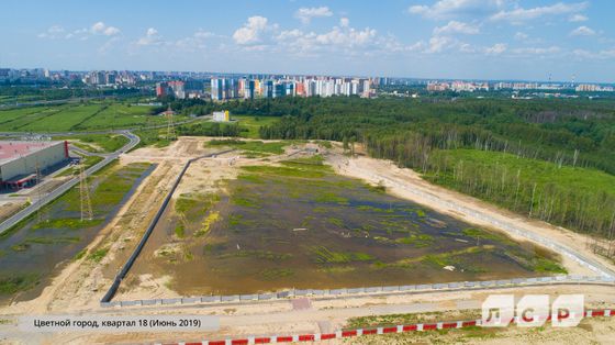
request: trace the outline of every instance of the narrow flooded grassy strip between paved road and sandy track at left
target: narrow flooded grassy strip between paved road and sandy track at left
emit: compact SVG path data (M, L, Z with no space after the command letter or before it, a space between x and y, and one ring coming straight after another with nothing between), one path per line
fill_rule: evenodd
M94 220L86 225L75 222L79 220L80 211L79 193L74 189L46 207L40 216L35 214L15 232L1 238L0 303L37 297L62 265L72 259L107 225L153 168L120 169L94 178L90 182ZM132 188L118 203L97 202L97 188L105 178L122 179ZM54 223L58 220L71 220L72 223Z

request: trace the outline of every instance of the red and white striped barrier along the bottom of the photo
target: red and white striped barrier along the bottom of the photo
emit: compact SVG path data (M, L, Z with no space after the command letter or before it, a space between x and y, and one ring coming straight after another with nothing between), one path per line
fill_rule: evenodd
M615 313L613 313L615 314ZM588 310L585 311L585 318L596 318L596 316L612 316L612 311L605 310ZM548 321L551 316L547 318ZM436 323L417 323L409 325L396 325L388 327L374 327L374 329L358 329L358 330L347 330L337 331L335 333L315 333L315 334L301 334L301 335L273 335L273 336L249 336L245 338L236 340L224 340L224 341L202 341L202 342L189 342L189 343L165 343L165 345L251 345L251 344L279 344L279 343L300 343L300 342L318 342L327 340L337 340L344 337L362 336L370 334L390 334L390 333L404 333L404 332L422 332L432 330L446 330L446 329L463 329L469 326L477 326L481 324L481 320L469 320L469 321L448 321L448 322L436 322Z

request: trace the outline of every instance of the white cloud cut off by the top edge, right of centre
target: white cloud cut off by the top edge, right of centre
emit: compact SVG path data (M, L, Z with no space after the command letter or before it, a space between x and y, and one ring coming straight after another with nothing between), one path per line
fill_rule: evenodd
M439 0L433 5L415 4L407 11L429 19L483 15L504 7L506 0Z

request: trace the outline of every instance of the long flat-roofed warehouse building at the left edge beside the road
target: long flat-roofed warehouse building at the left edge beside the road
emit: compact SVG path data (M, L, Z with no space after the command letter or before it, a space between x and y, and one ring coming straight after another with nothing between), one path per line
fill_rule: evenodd
M36 168L49 170L68 159L68 142L0 141L0 185L21 189L36 182Z

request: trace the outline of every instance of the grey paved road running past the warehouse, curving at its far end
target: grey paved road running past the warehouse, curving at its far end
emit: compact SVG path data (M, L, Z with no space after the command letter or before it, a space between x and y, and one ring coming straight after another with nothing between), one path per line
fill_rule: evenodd
M111 162L113 162L118 157L120 157L121 154L132 149L133 147L138 145L138 143L141 142L141 138L137 135L131 133L130 131L118 131L116 133L122 134L125 137L127 137L128 143L126 145L124 145L122 148L118 149L116 152L108 155L101 162L99 162L96 165L89 167L86 170L86 176L90 176L90 175L97 172L98 170L102 169L104 166L107 166L108 164L110 164ZM38 209L41 209L45 204L52 202L53 200L55 200L59 196L64 194L70 188L75 187L77 183L79 183L79 178L74 177L70 180L66 181L60 187L54 189L52 192L47 193L45 197L41 198L40 200L34 201L27 208L25 208L25 209L19 211L18 213L13 214L11 218L9 218L4 222L0 223L0 234L4 233L5 231L8 231L12 226L14 226L15 224L18 224L19 222L24 220L26 216L29 216L29 215L33 214L34 212L38 211Z

